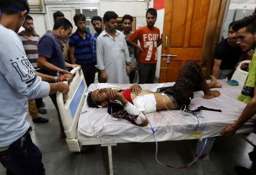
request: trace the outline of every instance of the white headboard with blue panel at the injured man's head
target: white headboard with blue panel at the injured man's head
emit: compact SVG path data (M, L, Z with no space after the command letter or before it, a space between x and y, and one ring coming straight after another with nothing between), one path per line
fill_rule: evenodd
M81 144L77 138L77 123L80 117L80 111L84 104L84 94L87 91L84 74L81 67L71 70L73 79L70 82L64 82L69 85L68 95L57 92L57 105L59 107L61 121L64 127L67 143L70 151L80 151Z

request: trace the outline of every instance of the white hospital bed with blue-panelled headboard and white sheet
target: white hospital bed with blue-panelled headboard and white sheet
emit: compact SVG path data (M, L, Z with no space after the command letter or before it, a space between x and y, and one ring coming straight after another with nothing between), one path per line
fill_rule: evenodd
M89 108L86 104L86 92L97 88L129 88L131 84L98 83L86 87L82 70L73 69L73 80L69 83L68 95L57 93L57 104L61 121L67 136L70 151L80 152L82 146L101 144L108 146L110 174L113 174L112 146L117 143L155 142L151 127L135 126L125 119L115 120L108 114L107 108ZM189 105L196 109L203 105L207 108L220 109L221 112L201 110L197 116L184 115L180 110L162 110L146 114L155 130L158 142L166 140L199 139L218 136L230 123L236 121L246 104L236 99L241 92L240 86L229 86L226 80L220 80L222 88L219 97L206 100L203 92L195 92ZM172 86L174 83L142 84L142 89L155 91L156 88ZM255 116L245 123L237 134L254 131Z

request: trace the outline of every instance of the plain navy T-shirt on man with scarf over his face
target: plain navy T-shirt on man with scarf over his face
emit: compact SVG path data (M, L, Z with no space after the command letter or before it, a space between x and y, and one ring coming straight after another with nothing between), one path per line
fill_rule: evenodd
M48 62L52 65L59 67L60 69L66 70L64 57L60 49L59 43L56 39L49 33L44 34L44 36L39 40L38 43L38 55L48 58ZM56 71L42 70L44 74L56 76Z

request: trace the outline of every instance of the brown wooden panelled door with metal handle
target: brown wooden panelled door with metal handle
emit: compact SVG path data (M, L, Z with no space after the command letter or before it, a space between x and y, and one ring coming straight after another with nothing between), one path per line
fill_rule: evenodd
M188 61L210 73L225 6L226 0L165 1L159 82L175 82Z

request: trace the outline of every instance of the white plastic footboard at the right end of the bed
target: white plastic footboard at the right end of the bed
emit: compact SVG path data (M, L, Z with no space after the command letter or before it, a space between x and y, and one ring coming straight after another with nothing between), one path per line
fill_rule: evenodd
M245 84L245 81L248 75L247 71L244 71L241 69L241 66L245 63L250 63L250 60L241 61L231 78L231 79L237 80L239 83L239 86L243 86Z

